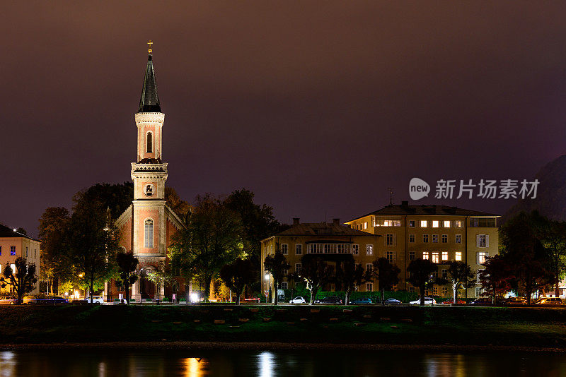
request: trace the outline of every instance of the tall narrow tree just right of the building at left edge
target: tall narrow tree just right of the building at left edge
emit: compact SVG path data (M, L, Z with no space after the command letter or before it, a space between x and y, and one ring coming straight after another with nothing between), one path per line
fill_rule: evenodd
M70 220L69 210L63 207L47 208L39 219L40 279L47 281L47 291L52 294L55 282L60 290L62 282L69 282L72 278L72 266L68 263L65 245Z

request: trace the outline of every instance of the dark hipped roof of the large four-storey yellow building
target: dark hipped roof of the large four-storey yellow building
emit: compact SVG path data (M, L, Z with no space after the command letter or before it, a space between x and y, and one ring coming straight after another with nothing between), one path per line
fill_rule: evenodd
M363 216L355 217L354 220L361 219L369 215L420 215L420 216L497 216L493 213L480 212L475 210L465 210L458 207L450 207L449 205L408 205L408 204L392 204L386 207L368 213Z

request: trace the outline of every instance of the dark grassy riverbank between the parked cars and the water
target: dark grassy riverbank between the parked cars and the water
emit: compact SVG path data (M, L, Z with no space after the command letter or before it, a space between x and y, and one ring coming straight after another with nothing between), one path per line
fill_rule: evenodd
M4 349L40 347L36 345L53 347L55 344L67 344L68 347L98 347L96 345L100 344L109 347L114 344L119 345L117 347L261 345L294 349L563 349L566 348L566 309L266 305L3 306L0 307L0 335L0 347Z

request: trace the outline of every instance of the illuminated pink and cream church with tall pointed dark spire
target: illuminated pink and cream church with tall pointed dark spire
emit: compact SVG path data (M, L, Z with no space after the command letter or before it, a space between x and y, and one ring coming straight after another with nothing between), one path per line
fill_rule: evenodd
M139 259L139 279L131 290L132 299L154 299L171 297L173 293L184 294L183 282L179 279L167 287L158 287L146 279L147 273L168 263L167 248L171 237L184 227L166 204L165 183L167 162L163 162L163 122L165 114L157 94L154 62L149 43L144 86L141 90L138 112L134 115L137 126L137 157L132 162L131 176L134 181L132 205L116 220L120 229L120 248L132 252ZM120 291L114 282L105 287L104 296L117 298Z

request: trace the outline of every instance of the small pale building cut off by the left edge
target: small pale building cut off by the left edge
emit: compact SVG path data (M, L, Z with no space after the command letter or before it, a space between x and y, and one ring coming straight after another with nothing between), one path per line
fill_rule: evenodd
M28 264L35 263L35 273L37 279L40 275L40 246L41 241L34 239L26 234L16 232L16 229L10 229L4 225L0 225L0 275L4 273L6 265L11 265L12 270L16 270L14 262L18 256L26 258ZM1 292L6 292L11 287L1 289ZM30 294L38 294L40 292L39 282L35 285Z

